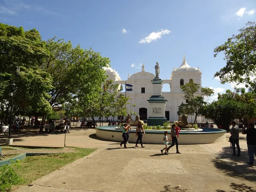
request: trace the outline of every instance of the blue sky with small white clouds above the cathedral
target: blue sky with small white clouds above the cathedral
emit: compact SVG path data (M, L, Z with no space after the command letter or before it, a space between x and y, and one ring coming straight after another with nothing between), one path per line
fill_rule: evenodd
M92 47L110 58L122 80L141 71L140 64L154 73L157 61L160 78L169 79L186 53L187 63L202 71L202 86L216 94L235 84L213 78L225 65L213 49L247 21L256 21L255 0L0 0L1 23Z

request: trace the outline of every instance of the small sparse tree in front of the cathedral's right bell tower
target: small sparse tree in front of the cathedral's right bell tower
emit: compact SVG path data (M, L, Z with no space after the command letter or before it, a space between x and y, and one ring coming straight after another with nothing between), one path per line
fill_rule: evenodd
M186 99L188 103L182 103L177 113L178 115L182 113L188 113L188 115L195 114L195 123L197 116L202 113L204 105L207 104L207 99L209 96L213 95L214 91L208 87L200 87L199 84L193 83L192 81L180 87L185 94L184 99Z

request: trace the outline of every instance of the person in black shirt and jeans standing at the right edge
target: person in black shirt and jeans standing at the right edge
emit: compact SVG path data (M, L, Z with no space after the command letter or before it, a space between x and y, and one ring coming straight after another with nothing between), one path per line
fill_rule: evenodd
M253 165L254 155L256 156L256 129L254 128L254 124L250 123L246 130L243 128L242 134L246 134L249 155L249 162L247 163Z

